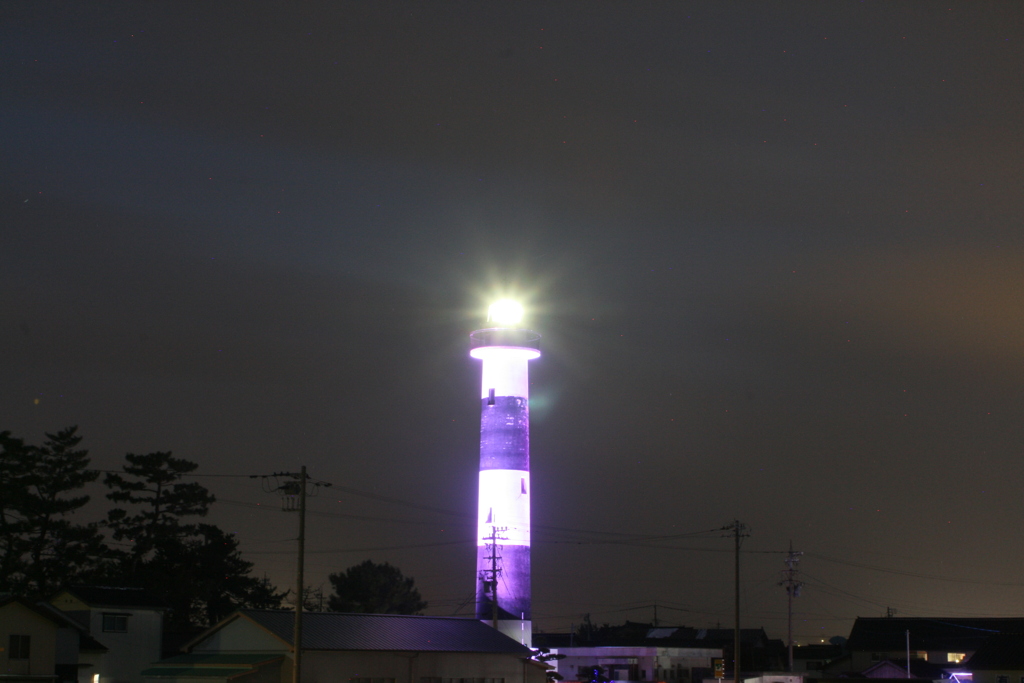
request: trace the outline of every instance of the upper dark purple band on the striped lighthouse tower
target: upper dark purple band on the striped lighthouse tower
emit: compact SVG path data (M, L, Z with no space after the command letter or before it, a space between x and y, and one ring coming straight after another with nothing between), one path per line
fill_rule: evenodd
M529 407L521 396L481 399L480 469L529 470Z

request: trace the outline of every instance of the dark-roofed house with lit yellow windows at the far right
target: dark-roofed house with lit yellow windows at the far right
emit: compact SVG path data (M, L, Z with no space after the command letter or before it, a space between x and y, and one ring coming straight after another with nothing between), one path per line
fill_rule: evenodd
M859 674L880 661L906 661L909 642L911 660L925 660L951 674L964 671L964 663L981 644L1000 633L1024 633L1024 618L858 616L847 641L849 659L829 664L824 672ZM903 672L905 676L905 668Z

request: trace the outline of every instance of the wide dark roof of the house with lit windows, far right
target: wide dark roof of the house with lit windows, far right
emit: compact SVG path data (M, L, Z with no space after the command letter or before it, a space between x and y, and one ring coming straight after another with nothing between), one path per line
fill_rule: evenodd
M911 650L973 652L989 636L1024 633L1024 618L928 618L858 616L850 631L851 650L893 651L906 647L910 632Z

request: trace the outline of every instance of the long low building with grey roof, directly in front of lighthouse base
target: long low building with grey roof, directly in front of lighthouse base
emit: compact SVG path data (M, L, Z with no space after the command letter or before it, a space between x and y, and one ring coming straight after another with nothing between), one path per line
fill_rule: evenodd
M145 683L291 680L295 613L242 609L142 672ZM305 612L302 683L545 683L529 648L472 618Z

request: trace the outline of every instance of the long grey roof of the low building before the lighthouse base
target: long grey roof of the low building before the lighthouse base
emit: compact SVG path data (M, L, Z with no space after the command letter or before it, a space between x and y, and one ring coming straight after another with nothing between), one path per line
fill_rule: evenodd
M240 611L285 642L292 643L295 612L281 609ZM302 649L529 655L529 648L474 618L344 612L304 612Z

